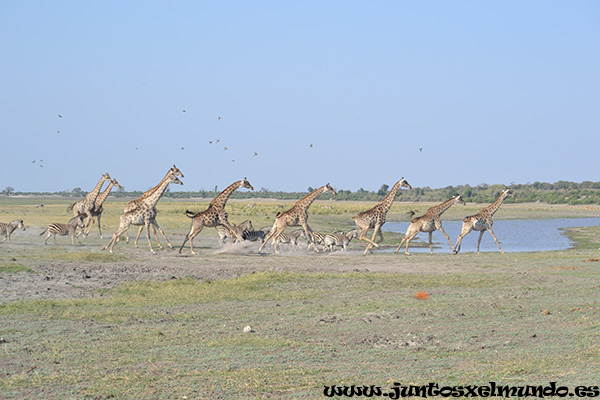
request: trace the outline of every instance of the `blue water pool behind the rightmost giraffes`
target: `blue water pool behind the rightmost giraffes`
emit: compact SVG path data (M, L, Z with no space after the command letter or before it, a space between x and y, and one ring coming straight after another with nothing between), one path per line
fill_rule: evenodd
M388 232L398 232L404 235L410 222L387 222L384 228ZM460 235L462 221L443 221L444 231L450 236L452 244ZM588 227L600 225L600 218L559 218L559 219L513 219L494 221L494 233L505 252L522 251L550 251L565 250L573 243L560 228ZM466 251L477 251L477 239L479 232L472 231L462 240L461 253ZM409 252L429 252L427 248L412 247L414 241L429 243L429 234L419 233L412 241ZM450 245L440 231L433 232L433 251L450 252ZM404 252L406 243L402 245ZM494 238L489 232L485 232L481 238L480 251L499 251Z

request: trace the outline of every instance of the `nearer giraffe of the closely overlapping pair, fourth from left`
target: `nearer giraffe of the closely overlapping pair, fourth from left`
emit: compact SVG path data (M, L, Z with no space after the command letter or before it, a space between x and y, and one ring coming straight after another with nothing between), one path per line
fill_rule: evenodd
M152 242L150 242L150 226L153 226L155 228L154 236L156 236L156 229L158 229L163 238L165 238L167 245L170 248L173 248L171 243L169 243L169 239L167 239L167 236L165 235L163 230L156 223L156 203L158 203L158 200L160 200L162 195L165 193L165 190L167 190L167 187L171 183L183 185L183 182L181 182L179 178L177 178L175 175L168 175L168 178L166 180L163 179L162 185L155 188L149 196L146 196L145 198L140 197L139 199L134 200L134 202L137 202L138 206L132 209L131 211L128 211L121 215L121 223L119 224L119 229L113 234L110 242L108 242L107 245L102 248L102 250L109 249L109 251L112 253L113 247L115 247L115 243L117 243L117 239L123 233L125 233L131 225L142 225L146 227L146 237L148 238L148 245L150 246L150 252L152 254L156 254L156 252L154 251L154 249L152 249ZM156 236L156 241L158 242L158 236ZM162 248L160 243L158 244L158 247Z

